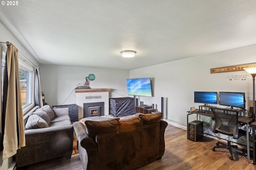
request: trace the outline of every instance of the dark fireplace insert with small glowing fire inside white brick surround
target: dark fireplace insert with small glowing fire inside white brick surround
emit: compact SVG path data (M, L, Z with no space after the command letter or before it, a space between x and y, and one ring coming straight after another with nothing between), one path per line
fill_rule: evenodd
M84 117L103 116L104 102L84 103Z

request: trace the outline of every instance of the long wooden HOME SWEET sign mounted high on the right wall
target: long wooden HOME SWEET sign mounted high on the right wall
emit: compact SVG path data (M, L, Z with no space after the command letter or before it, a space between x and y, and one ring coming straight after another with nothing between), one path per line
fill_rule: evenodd
M234 65L229 67L219 67L211 69L211 73L224 73L224 72L232 72L232 71L243 71L243 68L248 67L256 67L256 63L250 63L250 64L242 64L242 65Z

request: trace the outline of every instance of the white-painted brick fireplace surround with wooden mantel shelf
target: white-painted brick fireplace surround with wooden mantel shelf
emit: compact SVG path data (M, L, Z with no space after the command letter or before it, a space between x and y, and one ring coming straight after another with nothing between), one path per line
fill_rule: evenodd
M78 119L84 117L84 103L104 102L104 115L109 115L109 92L111 89L75 89Z

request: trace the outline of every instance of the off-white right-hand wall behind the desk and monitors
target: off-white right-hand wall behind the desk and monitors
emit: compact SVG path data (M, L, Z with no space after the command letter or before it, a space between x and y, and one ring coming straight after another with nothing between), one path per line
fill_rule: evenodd
M252 106L252 77L246 71L210 73L211 68L256 63L256 45L250 45L209 55L190 57L168 63L130 70L130 78L153 79L154 97L140 97L144 104L154 103L158 110L161 97L167 98L167 119L186 125L186 115L194 103L194 91L245 92L246 107ZM171 56L170 56L171 57ZM246 80L227 77L244 75ZM149 100L151 103L149 103ZM146 102L145 102L146 101ZM190 119L194 119L193 117Z

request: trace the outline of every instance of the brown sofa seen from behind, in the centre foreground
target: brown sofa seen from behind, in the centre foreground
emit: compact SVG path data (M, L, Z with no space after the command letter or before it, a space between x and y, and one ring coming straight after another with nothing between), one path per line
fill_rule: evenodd
M84 170L132 170L162 158L167 122L162 113L73 124Z

